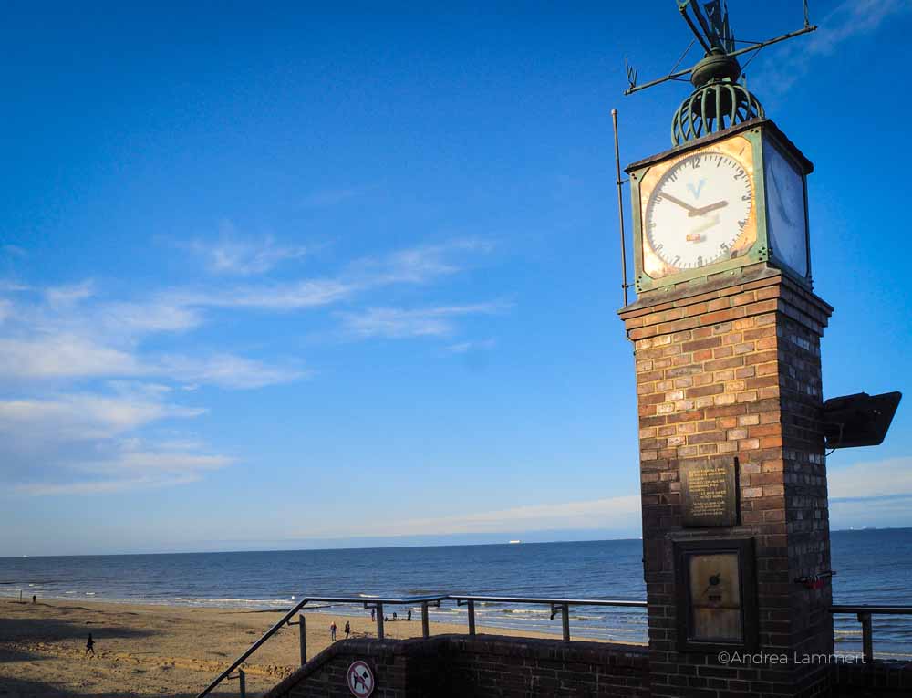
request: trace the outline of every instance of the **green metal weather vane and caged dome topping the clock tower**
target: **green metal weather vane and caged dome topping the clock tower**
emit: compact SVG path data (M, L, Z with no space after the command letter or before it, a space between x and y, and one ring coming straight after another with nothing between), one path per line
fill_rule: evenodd
M741 121L765 116L760 101L748 91L744 80L739 82L743 68L738 62L738 57L813 32L817 27L811 24L808 17L807 0L803 0L803 28L766 41L735 39L729 24L728 4L722 0L705 2L702 9L700 3L695 0L676 2L681 16L693 32L694 39L664 78L637 85L637 71L627 65L627 81L630 85L624 94L633 94L641 89L689 75L695 89L689 98L683 101L672 120L671 140L675 145L729 128ZM679 70L679 65L695 42L702 47L703 58L692 68ZM737 48L736 44L748 46Z

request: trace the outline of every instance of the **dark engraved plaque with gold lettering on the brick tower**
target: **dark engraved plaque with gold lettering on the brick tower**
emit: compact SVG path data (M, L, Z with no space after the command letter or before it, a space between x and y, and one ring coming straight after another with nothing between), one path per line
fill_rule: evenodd
M680 466L686 527L738 526L737 462Z

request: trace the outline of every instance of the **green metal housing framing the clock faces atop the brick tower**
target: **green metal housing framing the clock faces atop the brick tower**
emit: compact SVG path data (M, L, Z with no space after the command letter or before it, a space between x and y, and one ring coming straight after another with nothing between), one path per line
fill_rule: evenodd
M757 239L740 256L732 259L724 259L719 262L713 262L706 266L700 266L697 269L687 269L678 273L668 274L661 278L648 276L644 271L643 264L643 210L640 200L640 182L646 173L658 164L664 163L671 159L679 159L690 151L706 148L718 141L724 141L732 136L741 135L751 143L753 150L753 182L755 189L755 205L757 219ZM770 243L770 231L767 222L766 211L769 206L767 200L767 187L765 181L765 169L763 162L763 144L766 141L772 141L772 147L777 148L787 160L791 161L801 174L804 190L804 245L807 258L807 273L802 275L794 270L777 254L776 250ZM700 283L709 276L731 272L735 273L743 266L754 265L759 262L770 262L772 266L780 269L782 273L793 277L799 283L811 288L813 286L811 277L811 243L810 243L810 225L807 212L807 175L814 172L814 164L804 157L802 151L790 141L782 130L769 119L754 119L744 121L737 126L729 129L716 131L708 136L693 141L687 141L685 144L670 151L665 151L654 155L645 160L634 162L628 165L625 172L630 176L630 191L633 196L633 226L634 226L634 269L635 269L635 288L637 294L654 290L672 291L682 283Z

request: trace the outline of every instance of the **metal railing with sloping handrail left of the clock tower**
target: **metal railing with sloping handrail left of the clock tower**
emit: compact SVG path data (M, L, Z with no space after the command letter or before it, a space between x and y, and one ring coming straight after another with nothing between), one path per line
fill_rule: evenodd
M523 598L523 597L513 597L513 596L467 596L460 594L440 594L434 596L416 596L416 597L405 597L402 599L392 599L392 598L370 598L370 597L349 597L349 596L313 596L306 597L299 601L295 607L289 610L282 617L281 620L275 623L275 625L266 630L262 637L259 640L255 641L250 647L247 648L244 653L242 653L228 669L220 673L215 679L206 686L205 690L200 693L197 698L205 698L205 696L212 693L212 690L215 689L221 682L225 680L239 679L241 682L241 696L244 698L244 670L241 669L241 665L247 661L247 659L257 651L263 644L268 641L276 632L282 630L285 625L297 625L300 632L300 643L301 643L301 664L302 666L307 661L307 651L306 651L306 621L304 615L300 613L301 609L304 609L308 603L344 603L364 607L365 610L374 609L377 622L377 638L378 640L383 640L384 638L384 617L383 609L385 606L417 606L421 607L421 636L424 638L430 637L430 622L428 619L428 609L431 607L440 608L440 603L443 601L455 601L457 606L468 606L468 616L469 616L469 634L475 634L475 604L476 603L514 603L514 604L532 604L532 605L545 605L551 607L551 619L554 620L554 616L557 613L562 615L562 625L564 630L564 640L570 640L570 607L571 606L616 606L619 608L638 608L645 609L646 601L630 601L630 600L608 600L608 599L541 599L541 598ZM325 608L325 607L323 607ZM292 620L295 613L298 613L298 620ZM238 673L233 675L233 672L237 670Z

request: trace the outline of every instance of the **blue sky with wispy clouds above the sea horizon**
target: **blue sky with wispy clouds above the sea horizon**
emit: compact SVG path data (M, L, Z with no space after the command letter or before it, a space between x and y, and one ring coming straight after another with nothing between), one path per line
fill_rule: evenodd
M815 163L824 397L908 392L912 2L811 13L746 73ZM5 5L0 556L637 537L610 110L668 150L689 85L624 59L689 40L671 0ZM910 414L829 458L832 527L912 526Z

